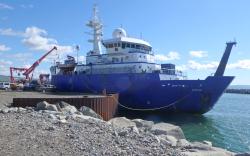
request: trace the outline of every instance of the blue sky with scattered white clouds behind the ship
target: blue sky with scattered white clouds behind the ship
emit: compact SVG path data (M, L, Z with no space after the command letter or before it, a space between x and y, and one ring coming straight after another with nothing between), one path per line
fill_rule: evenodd
M248 0L43 0L0 1L0 74L9 66L29 66L53 45L36 70L49 72L54 58L84 60L92 45L85 26L94 4L104 24L104 39L122 26L129 36L150 42L159 63L175 63L189 79L215 72L225 43L236 39L225 75L233 84L250 84L250 1Z

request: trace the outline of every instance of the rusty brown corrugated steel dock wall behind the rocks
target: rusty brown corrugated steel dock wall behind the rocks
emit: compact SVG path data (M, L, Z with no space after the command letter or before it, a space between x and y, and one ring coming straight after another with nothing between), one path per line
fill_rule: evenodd
M65 101L70 105L80 108L86 106L93 109L97 114L102 116L105 121L110 120L116 114L118 108L118 94L95 95L95 96L66 96L66 97L34 97L34 98L13 98L13 107L36 107L38 102L47 101L55 104Z

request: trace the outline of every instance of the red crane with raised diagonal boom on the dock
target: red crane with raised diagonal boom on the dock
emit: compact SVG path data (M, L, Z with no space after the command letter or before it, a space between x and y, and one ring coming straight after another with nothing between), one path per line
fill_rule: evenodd
M16 71L20 71L20 72L23 72L23 75L25 76L25 79L26 80L31 80L32 77L33 77L33 74L32 76L30 77L29 75L36 69L36 67L45 59L46 56L48 56L52 51L54 50L57 50L57 47L54 46L50 51L48 51L46 54L44 54L40 59L38 59L36 62L34 62L32 64L32 66L30 66L29 68L16 68L16 67L10 67L10 81L12 83L15 82L15 79L13 77L13 71L16 70Z

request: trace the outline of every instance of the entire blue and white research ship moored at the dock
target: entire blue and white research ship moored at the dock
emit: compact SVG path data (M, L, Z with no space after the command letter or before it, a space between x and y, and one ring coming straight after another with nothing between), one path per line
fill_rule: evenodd
M228 42L214 75L204 80L189 80L174 64L158 64L152 46L127 35L123 28L112 38L102 39L102 23L93 9L87 23L92 28L93 49L86 63L68 56L53 65L51 83L59 91L119 93L119 106L135 111L170 111L203 114L213 108L234 79L224 71L236 42ZM105 49L105 52L104 52Z

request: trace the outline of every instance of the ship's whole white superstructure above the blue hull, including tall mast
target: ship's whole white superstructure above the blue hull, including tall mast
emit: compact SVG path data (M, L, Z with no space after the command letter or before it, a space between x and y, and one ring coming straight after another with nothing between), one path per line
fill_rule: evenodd
M93 50L87 53L86 64L76 65L72 73L159 73L160 79L183 79L176 74L173 64L155 63L152 46L142 39L128 37L123 28L115 29L111 39L102 40L102 23L97 17L96 6L93 11L93 17L87 23L93 29L93 39L89 40L93 43Z

